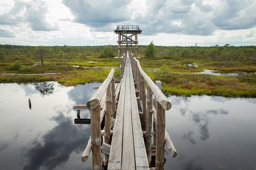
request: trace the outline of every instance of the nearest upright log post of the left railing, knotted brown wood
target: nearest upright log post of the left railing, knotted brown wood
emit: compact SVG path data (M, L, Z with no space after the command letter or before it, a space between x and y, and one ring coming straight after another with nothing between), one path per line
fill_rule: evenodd
M101 129L100 104L90 110L91 115L91 143L93 150L93 170L101 170Z

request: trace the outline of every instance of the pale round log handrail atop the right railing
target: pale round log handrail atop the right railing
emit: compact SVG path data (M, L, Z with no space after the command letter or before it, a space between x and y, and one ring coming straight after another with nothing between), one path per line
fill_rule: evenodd
M147 82L148 86L151 88L151 91L154 93L157 101L160 103L162 108L166 111L168 111L170 108L172 108L171 102L167 99L167 97L162 93L162 91L157 87L157 85L154 84L154 82L151 80L150 77L148 77L147 74L143 71L143 69L140 66L140 61L136 58L134 58L134 61L137 62L138 69L140 71L140 74L143 76L145 81Z

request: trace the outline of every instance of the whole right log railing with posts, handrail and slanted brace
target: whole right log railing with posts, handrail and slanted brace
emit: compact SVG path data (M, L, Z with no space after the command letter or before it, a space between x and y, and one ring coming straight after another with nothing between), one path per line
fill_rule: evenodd
M172 140L165 129L165 111L169 110L172 105L162 91L154 84L140 66L139 60L129 53L131 64L133 66L134 84L139 92L143 112L142 130L146 131L145 146L148 156L148 163L151 162L151 128L152 128L152 114L154 115L156 123L156 169L164 170L164 144L172 157L177 156ZM145 83L147 87L145 88ZM154 95L155 107L153 105L152 96Z

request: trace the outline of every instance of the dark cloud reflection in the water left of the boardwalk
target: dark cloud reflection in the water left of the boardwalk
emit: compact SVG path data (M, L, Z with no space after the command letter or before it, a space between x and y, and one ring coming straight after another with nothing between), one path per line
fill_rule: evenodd
M85 148L90 137L88 126L74 125L73 120L62 113L52 120L57 126L44 134L41 141L34 139L25 147L24 170L35 170L40 167L52 170L68 161L71 153L81 153Z

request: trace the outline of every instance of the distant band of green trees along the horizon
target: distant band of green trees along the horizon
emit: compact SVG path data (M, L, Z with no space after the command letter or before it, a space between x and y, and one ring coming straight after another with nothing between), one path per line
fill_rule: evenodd
M69 57L115 57L117 45L101 46L25 46L25 45L1 45L0 59L17 60L24 57L35 58L38 61L48 58ZM225 44L210 47L201 46L157 46L151 42L149 45L138 45L138 55L151 59L206 59L211 61L230 61L256 63L256 46L233 46Z

